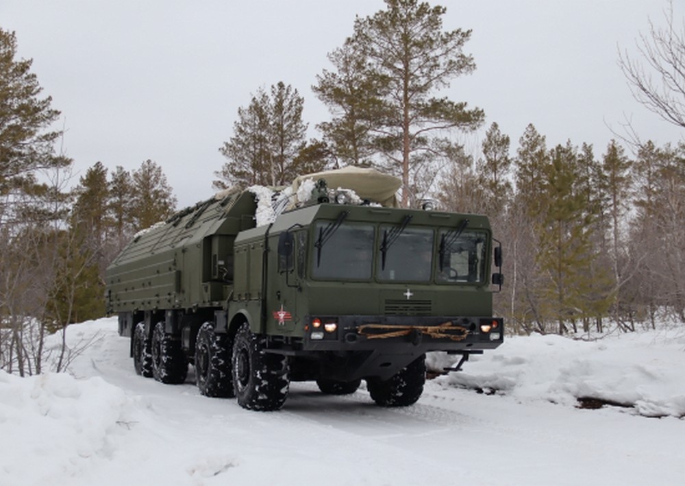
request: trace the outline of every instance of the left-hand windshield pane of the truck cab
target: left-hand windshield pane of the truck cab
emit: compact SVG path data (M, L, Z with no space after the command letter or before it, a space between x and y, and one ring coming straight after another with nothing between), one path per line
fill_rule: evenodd
M314 234L325 231L328 225L328 221L317 222ZM370 224L340 224L320 254L314 256L312 276L323 280L369 280L373 268L373 234Z

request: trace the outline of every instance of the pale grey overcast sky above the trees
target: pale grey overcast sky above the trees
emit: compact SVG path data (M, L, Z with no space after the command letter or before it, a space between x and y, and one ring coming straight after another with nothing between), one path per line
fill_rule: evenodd
M512 150L528 123L548 147L592 143L599 157L632 120L643 138L677 142L681 130L640 106L616 64L637 56L648 19L662 24L666 0L432 1L445 29L473 29L464 51L477 69L442 94L483 108L486 124L463 136L472 153L497 121ZM312 94L326 54L352 32L356 15L382 0L1 0L0 27L66 127L77 175L97 161L136 169L148 158L169 178L179 206L212 194L219 147L251 93L283 81L305 98L310 136L329 114ZM676 16L682 18L682 8ZM61 125L60 125L61 126ZM477 155L477 154L476 154Z

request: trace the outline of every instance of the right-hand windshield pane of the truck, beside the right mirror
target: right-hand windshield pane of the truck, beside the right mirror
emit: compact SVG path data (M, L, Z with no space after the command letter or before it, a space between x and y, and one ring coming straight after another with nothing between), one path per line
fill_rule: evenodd
M440 241L449 241L449 230L440 231ZM486 241L483 231L465 230L439 252L438 282L485 281Z

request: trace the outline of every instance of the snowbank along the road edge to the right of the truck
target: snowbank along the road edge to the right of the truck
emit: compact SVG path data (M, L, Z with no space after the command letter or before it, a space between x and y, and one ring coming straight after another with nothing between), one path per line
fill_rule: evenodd
M645 332L601 341L554 335L511 337L494 352L471 356L462 372L440 376L445 387L477 389L519 400L577 406L593 399L647 417L685 417L685 336ZM452 356L433 354L441 369Z

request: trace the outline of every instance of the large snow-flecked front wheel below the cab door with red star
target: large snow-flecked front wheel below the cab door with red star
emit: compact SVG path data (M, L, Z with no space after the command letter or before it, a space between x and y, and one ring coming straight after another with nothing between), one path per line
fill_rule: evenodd
M233 344L233 385L238 404L244 409L280 409L288 396L286 356L264 352L265 339L254 335L245 323Z

